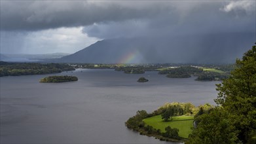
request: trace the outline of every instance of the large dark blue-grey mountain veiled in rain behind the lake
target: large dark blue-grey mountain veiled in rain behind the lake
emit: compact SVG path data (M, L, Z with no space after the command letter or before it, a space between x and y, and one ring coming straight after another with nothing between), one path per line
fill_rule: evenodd
M255 33L222 33L105 39L56 62L70 63L234 63L255 43ZM210 45L209 45L210 44Z

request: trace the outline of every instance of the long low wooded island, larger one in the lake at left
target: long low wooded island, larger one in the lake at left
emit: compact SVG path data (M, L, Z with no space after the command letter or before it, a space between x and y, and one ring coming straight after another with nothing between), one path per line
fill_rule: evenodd
M77 77L74 76L50 76L41 79L39 82L69 82L69 81L78 81Z

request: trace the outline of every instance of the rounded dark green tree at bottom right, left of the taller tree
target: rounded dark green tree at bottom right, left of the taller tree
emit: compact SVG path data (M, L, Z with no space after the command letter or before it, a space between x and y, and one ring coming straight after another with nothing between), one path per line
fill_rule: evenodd
M227 118L230 113L223 109L215 108L210 113L204 113L195 120L198 122L197 127L189 135L188 144L204 143L236 143L237 131L232 126L232 121Z

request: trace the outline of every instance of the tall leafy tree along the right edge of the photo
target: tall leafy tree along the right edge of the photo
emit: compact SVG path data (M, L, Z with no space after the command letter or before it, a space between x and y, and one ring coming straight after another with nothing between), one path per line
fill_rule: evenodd
M219 96L215 102L232 113L230 118L239 131L238 138L250 143L256 135L256 46L242 60L236 60L231 77L217 84L217 90Z

